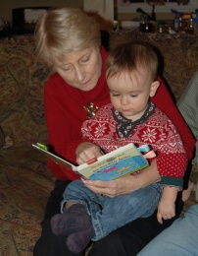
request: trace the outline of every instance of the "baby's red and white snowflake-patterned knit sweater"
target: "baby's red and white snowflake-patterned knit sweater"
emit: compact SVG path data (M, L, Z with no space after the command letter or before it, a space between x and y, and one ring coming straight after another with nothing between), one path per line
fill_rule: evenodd
M99 109L96 115L82 125L85 141L99 145L105 153L128 143L137 147L148 144L157 154L157 166L162 186L182 189L183 175L187 167L187 155L173 122L159 108L153 108L148 118L133 122L133 129L126 138L119 136L118 122L113 117L112 104ZM131 122L132 123L132 122Z

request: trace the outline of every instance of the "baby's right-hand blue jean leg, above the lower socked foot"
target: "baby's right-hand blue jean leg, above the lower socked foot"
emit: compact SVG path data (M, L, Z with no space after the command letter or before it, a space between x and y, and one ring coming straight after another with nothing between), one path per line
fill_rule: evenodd
M113 198L104 196L103 209L95 213L92 219L94 226L100 224L101 231L92 240L99 240L138 218L151 216L158 207L161 195L162 189L159 185L152 184L127 195Z

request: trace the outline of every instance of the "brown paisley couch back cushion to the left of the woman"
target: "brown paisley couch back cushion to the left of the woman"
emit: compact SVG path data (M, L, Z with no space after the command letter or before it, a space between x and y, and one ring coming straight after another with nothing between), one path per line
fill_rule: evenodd
M43 92L50 74L34 54L33 34L0 39L0 123L15 147L47 141Z

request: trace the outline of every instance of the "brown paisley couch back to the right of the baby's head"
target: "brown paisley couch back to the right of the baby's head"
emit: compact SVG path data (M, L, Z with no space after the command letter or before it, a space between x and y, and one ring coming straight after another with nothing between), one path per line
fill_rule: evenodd
M190 33L146 33L137 31L111 32L115 36L142 39L154 44L161 60L160 75L177 100L198 68L198 34Z

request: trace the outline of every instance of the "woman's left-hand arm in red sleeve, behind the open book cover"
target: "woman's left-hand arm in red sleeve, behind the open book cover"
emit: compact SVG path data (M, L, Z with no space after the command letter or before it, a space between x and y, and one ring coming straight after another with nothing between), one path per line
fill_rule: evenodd
M76 105L75 117L70 109L70 105L74 105L74 99L69 96L66 85L56 74L46 83L44 103L50 150L75 163L75 149L82 141L82 107ZM52 160L48 160L48 167L61 180L79 178L72 169L56 164Z

